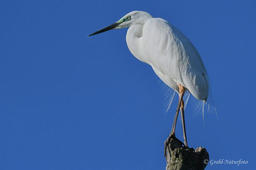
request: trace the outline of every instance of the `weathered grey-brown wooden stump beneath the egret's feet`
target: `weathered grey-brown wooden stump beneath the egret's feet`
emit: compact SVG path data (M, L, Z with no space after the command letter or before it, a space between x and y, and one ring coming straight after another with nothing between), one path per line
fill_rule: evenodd
M177 138L171 140L166 152L166 170L204 170L209 161L209 154L204 147L196 150L183 147Z

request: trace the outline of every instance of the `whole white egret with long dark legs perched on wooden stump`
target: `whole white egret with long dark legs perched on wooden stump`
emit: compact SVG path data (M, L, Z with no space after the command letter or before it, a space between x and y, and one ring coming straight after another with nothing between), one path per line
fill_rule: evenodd
M172 138L175 138L179 110L181 111L184 146L187 147L184 92L189 91L196 99L206 103L209 91L207 71L198 51L181 31L166 20L153 18L144 11L132 11L116 23L89 36L126 27L129 27L126 42L131 53L140 61L151 65L155 74L179 95L173 127L164 142L164 156L166 157L167 145Z

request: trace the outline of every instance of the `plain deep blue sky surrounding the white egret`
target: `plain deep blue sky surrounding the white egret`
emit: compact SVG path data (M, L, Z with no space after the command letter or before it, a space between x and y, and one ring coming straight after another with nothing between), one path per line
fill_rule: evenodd
M185 110L190 147L206 147L208 170L255 167L256 2L0 2L0 169L165 169L164 141L176 102L149 65L127 48L127 29L88 34L130 11L147 11L196 46L218 111ZM182 139L181 121L176 136Z

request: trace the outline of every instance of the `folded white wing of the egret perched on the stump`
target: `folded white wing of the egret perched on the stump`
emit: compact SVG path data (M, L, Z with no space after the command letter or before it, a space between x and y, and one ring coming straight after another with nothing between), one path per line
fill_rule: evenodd
M161 18L147 20L143 27L143 50L147 62L200 100L207 100L208 80L194 45L175 26Z

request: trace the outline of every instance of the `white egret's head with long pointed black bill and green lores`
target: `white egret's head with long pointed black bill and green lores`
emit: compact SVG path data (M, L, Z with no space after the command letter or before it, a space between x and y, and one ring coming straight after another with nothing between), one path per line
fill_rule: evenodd
M111 24L111 25L109 25L105 28L102 28L102 29L88 35L88 37L92 36L92 35L95 35L95 34L100 34L102 32L109 31L109 30L112 30L112 29L127 28L127 27L133 26L135 24L142 24L143 25L150 18L152 18L152 16L147 12L132 11L132 12L124 15L124 17L122 17L117 22L115 22L115 23L113 23L113 24Z

